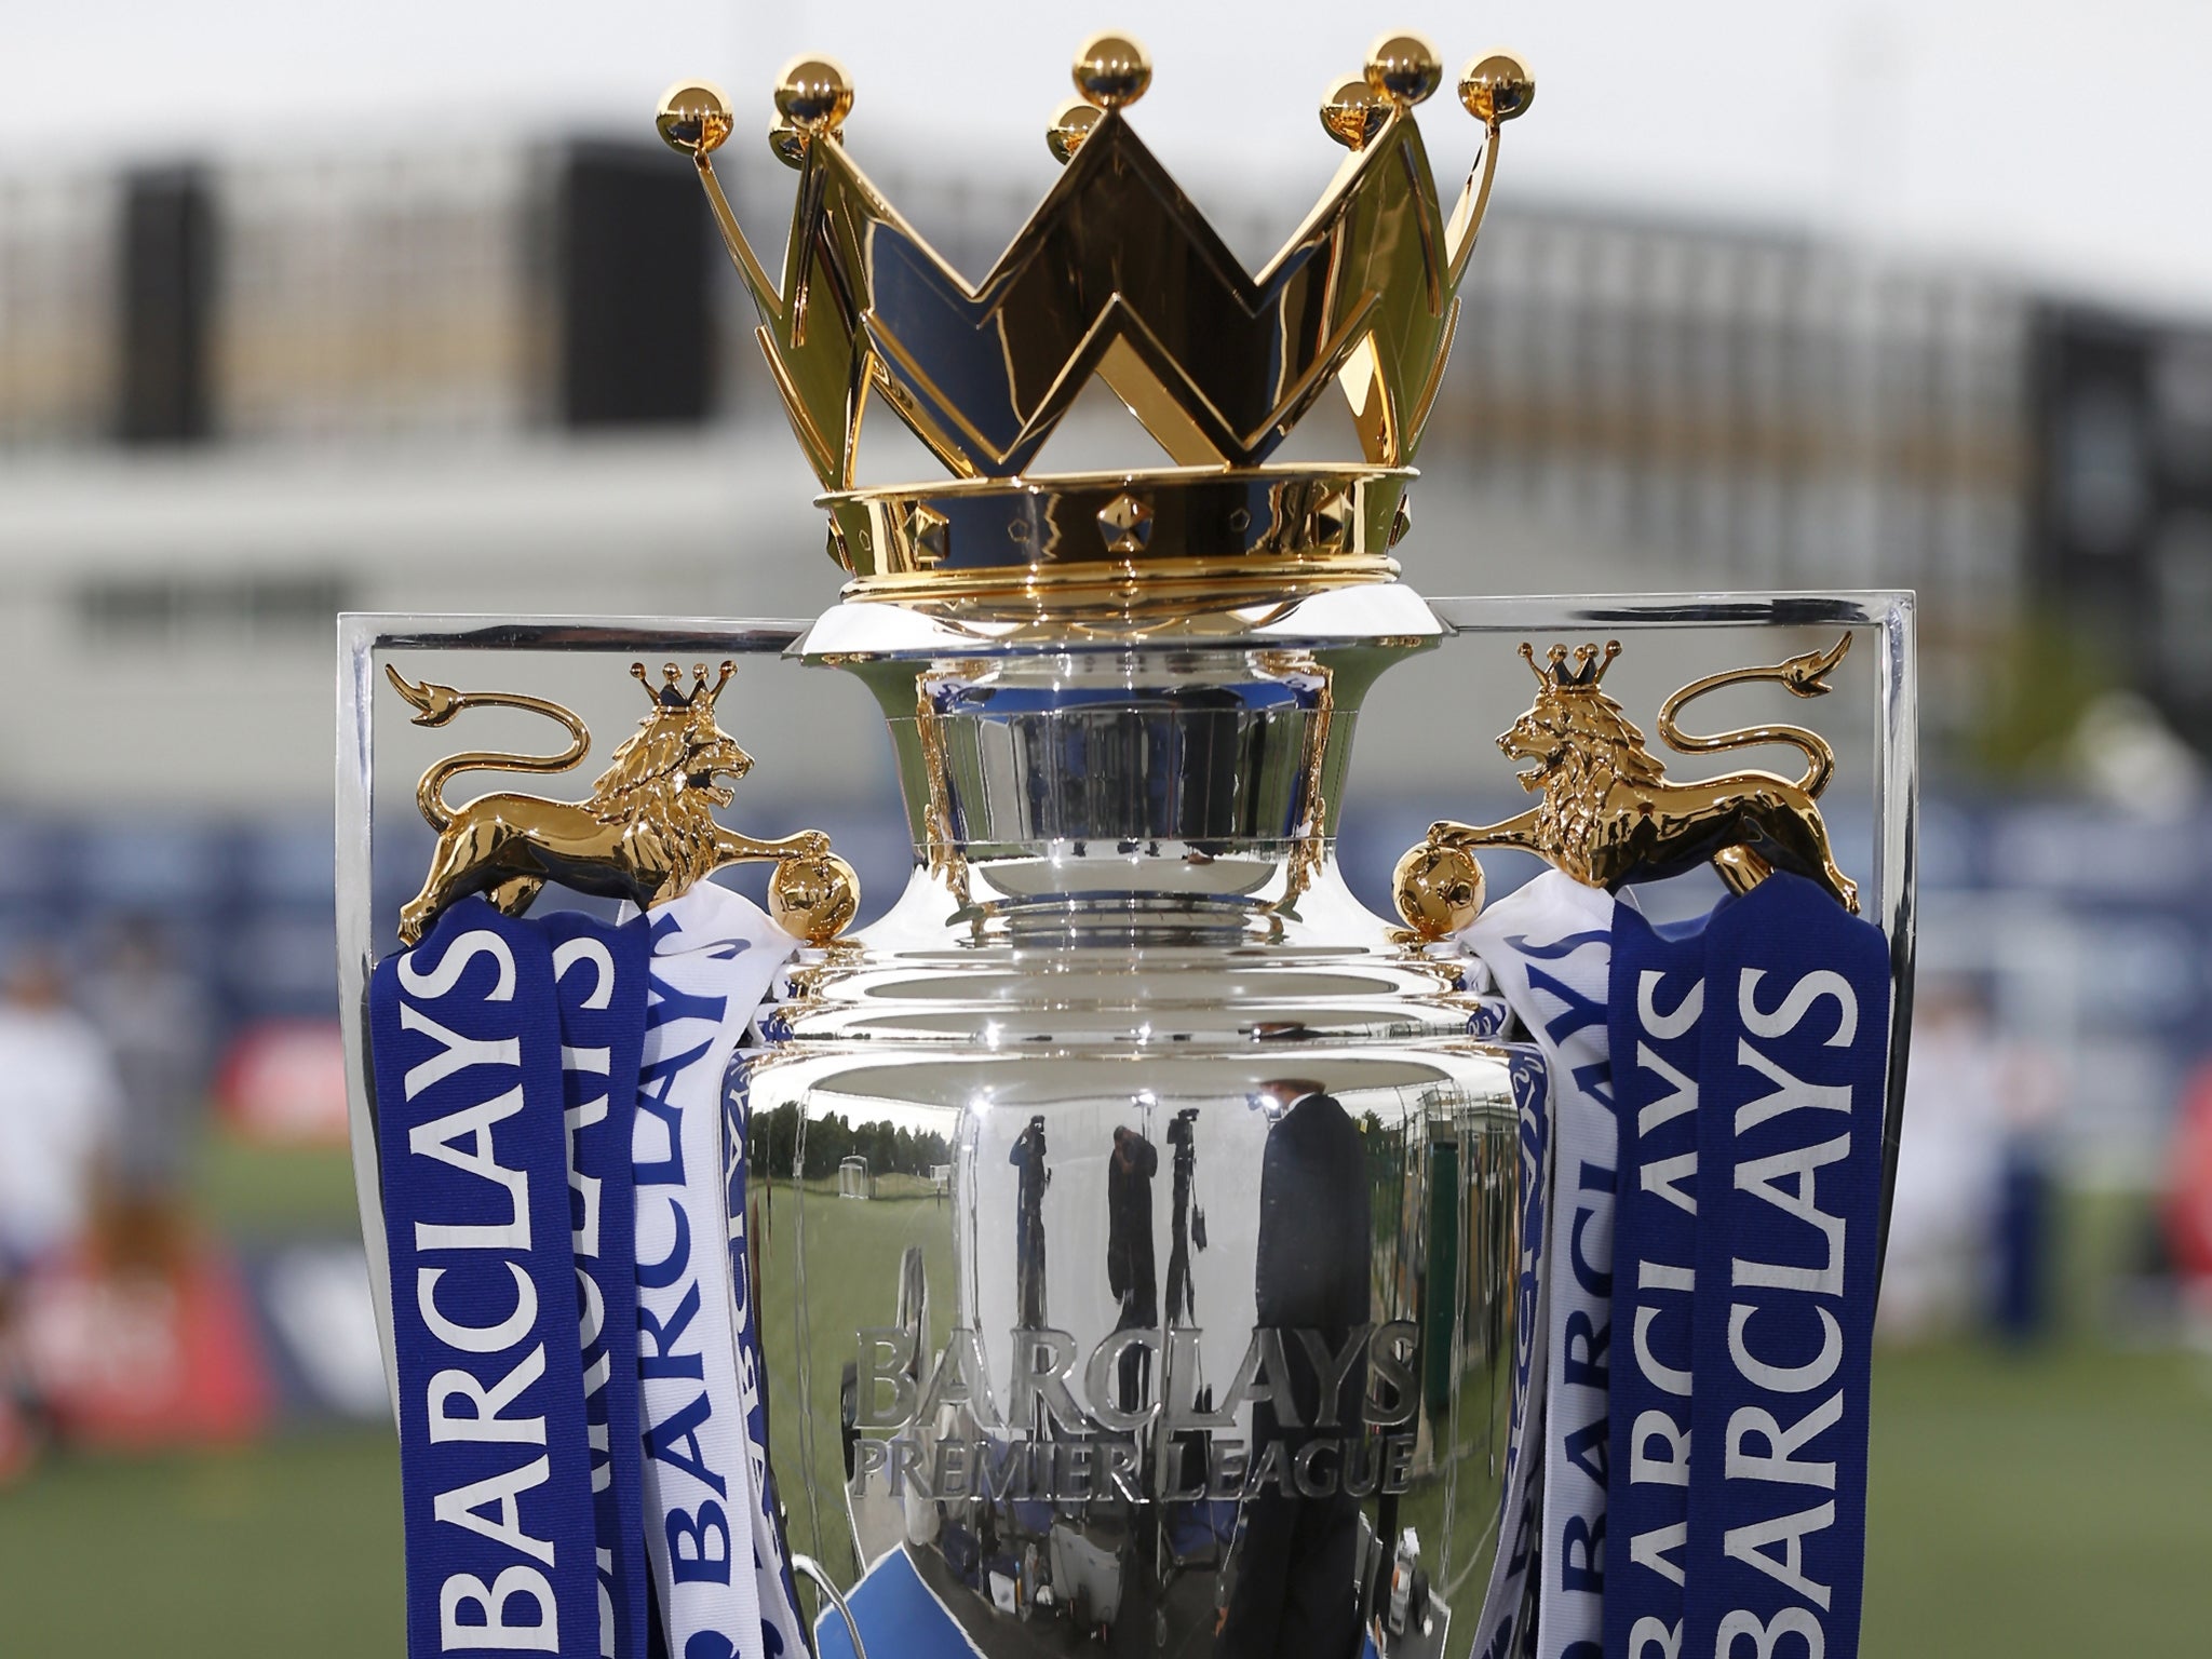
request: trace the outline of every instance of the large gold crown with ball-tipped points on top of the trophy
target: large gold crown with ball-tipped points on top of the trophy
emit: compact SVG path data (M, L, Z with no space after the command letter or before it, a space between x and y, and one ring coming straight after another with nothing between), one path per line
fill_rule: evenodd
M1471 62L1460 102L1484 124L1458 206L1438 201L1413 106L1442 82L1420 35L1387 35L1332 86L1321 124L1352 155L1261 270L1245 272L1128 124L1152 80L1119 35L1075 58L1077 100L1046 142L1066 173L980 283L907 226L845 150L852 82L825 58L785 66L774 153L799 170L783 285L768 279L714 177L730 104L706 82L661 100L759 310L792 429L825 487L830 553L852 591L902 597L1088 582L1155 597L1181 582L1267 575L1292 586L1396 573L1413 453L1489 206L1498 128L1535 95L1506 53ZM1091 378L1170 465L1026 473ZM1336 383L1360 458L1276 465L1272 451ZM858 489L869 398L951 480Z

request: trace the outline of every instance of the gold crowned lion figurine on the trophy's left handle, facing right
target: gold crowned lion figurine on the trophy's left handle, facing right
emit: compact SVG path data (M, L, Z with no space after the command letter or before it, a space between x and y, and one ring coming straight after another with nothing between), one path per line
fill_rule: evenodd
M677 666L661 670L655 690L644 664L630 672L646 686L653 710L615 750L613 765L591 785L588 801L544 801L535 794L484 794L453 810L445 785L460 772L566 772L584 759L591 732L575 712L520 692L458 692L451 686L409 684L392 666L385 675L418 712L416 726L445 726L467 708L522 708L568 730L560 754L495 754L471 750L438 761L416 785L416 805L438 832L422 891L400 907L400 938L416 945L451 902L482 894L509 916L520 916L549 880L582 894L628 898L639 909L677 898L723 865L754 858L830 856L830 836L803 830L783 841L754 841L714 823L714 807L730 805L730 790L714 779L741 779L752 757L714 723L714 699L730 684L706 681L692 668L686 692Z

